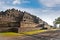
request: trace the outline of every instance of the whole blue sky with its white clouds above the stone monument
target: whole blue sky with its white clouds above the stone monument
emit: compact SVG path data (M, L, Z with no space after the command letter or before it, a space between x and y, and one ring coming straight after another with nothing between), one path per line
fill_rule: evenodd
M0 11L11 8L27 11L50 25L60 16L60 0L0 0Z

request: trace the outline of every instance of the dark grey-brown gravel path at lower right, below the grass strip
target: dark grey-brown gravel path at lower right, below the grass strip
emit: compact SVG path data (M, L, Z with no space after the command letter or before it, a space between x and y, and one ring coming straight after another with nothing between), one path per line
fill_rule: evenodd
M60 40L60 30L28 35L20 40Z

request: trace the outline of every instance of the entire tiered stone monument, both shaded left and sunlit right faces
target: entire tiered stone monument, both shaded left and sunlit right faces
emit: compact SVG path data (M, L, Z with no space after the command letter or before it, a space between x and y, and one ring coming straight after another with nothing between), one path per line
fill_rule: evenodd
M39 17L31 15L30 13L27 12L21 12L19 10L15 10L14 8L8 9L4 12L3 11L0 12L0 30L2 31L17 30L17 32L24 32L24 31L38 30L41 27L37 26L43 24L43 22L44 21L41 20Z

